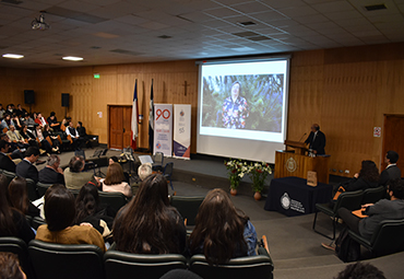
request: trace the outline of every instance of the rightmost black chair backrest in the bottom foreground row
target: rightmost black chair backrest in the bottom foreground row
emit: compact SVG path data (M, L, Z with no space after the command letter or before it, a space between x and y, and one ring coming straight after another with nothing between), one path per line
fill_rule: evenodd
M194 255L190 259L190 270L202 278L254 278L272 279L273 263L269 256L258 255L233 258L227 264L212 266L204 255Z

